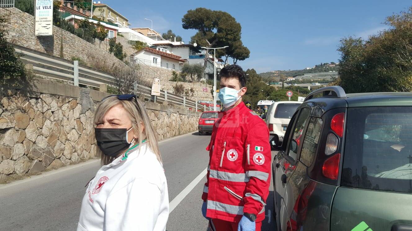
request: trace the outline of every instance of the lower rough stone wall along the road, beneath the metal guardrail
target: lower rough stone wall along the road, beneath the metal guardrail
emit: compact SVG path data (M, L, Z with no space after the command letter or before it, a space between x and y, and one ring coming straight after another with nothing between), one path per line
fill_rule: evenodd
M0 181L96 157L93 116L105 92L36 79L0 88ZM159 140L197 129L200 113L145 102Z

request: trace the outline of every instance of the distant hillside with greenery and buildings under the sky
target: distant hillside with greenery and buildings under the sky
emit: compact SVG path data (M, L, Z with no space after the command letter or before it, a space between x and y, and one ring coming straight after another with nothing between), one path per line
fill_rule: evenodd
M260 73L259 76L262 77L262 79L268 83L268 82L279 82L282 79L285 79L288 77L296 77L296 76L304 75L306 73L330 72L330 71L337 72L338 70L339 70L339 64L336 64L335 62L330 62L330 63L321 62L321 64L315 65L315 67L311 69L287 70L287 71L278 70L278 71Z

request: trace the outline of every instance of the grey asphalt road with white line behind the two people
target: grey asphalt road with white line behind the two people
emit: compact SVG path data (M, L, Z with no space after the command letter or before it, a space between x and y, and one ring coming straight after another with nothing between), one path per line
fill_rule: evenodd
M169 200L174 204L168 231L207 230L207 220L201 215L201 193L206 176L199 174L204 173L208 164L205 148L209 141L210 136L194 132L159 143ZM99 167L98 160L91 160L0 186L0 230L75 230L86 190L84 186ZM269 190L262 230L272 231L275 230L274 220L268 214L272 215L273 211L273 186ZM180 201L176 196L185 197Z

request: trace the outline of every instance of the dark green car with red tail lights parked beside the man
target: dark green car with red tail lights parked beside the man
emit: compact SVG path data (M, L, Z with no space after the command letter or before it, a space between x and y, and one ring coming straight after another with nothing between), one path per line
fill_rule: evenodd
M278 231L412 231L412 93L315 90L271 145Z

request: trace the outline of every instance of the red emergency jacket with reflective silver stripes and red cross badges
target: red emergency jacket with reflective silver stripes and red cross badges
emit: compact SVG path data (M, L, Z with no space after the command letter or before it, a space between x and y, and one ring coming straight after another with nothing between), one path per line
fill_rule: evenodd
M206 217L239 222L243 213L253 213L260 222L265 219L271 175L269 130L243 102L222 114L206 148Z

